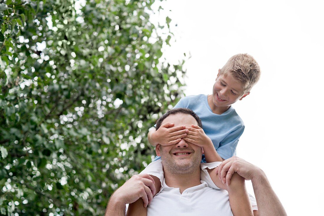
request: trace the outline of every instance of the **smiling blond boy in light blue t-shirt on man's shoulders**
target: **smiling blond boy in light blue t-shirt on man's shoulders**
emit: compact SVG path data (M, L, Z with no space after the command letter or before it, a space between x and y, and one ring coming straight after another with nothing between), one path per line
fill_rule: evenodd
M189 108L202 120L203 129L191 127L172 127L167 122L158 130L148 133L148 141L156 146L171 145L184 139L193 144L204 143L202 162L223 161L235 155L239 137L244 131L244 123L231 107L237 100L250 94L250 90L260 78L260 67L248 54L232 56L218 74L212 95L196 95L181 98L174 108ZM142 173L150 174L155 180L156 193L163 181L162 163L156 157ZM139 205L138 205L139 206ZM132 205L130 205L130 208Z

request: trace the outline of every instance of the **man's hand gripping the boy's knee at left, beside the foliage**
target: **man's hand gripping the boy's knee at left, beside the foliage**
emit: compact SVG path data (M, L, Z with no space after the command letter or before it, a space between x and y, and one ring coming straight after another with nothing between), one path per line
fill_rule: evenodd
M151 203L155 194L154 179L148 174L138 174L132 176L125 184L113 193L115 202L133 203L137 199L143 199L144 207Z

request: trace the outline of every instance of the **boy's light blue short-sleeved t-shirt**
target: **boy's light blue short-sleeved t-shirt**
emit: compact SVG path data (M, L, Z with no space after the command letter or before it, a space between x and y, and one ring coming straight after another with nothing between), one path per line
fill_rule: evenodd
M236 154L237 142L244 131L244 123L232 106L218 115L209 107L207 95L193 95L181 98L174 108L188 108L199 116L203 130L212 140L219 156L228 159ZM161 157L156 156L154 160L159 158ZM206 162L204 156L202 162Z

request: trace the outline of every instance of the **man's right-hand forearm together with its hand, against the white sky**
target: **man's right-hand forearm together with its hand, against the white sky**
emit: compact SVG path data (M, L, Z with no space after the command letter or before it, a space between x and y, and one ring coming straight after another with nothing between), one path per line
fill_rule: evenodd
M231 184L231 178L234 173L247 180L251 180L260 216L287 215L279 198L273 191L267 176L260 168L234 156L223 161L215 168L215 172L217 172L219 179L226 185Z

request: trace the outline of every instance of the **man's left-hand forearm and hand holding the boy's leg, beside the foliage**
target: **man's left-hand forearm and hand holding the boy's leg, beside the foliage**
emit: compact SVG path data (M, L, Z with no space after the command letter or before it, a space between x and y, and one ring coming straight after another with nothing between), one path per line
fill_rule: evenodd
M132 176L110 197L105 216L125 216L125 205L138 199L144 201L146 207L155 194L154 179L148 174Z

